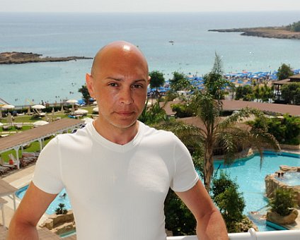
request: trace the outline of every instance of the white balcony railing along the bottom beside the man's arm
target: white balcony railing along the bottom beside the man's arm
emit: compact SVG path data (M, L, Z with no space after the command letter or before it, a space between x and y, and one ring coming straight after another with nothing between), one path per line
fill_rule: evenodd
M248 232L228 234L230 240L300 240L300 230ZM168 236L167 240L197 240L197 236Z

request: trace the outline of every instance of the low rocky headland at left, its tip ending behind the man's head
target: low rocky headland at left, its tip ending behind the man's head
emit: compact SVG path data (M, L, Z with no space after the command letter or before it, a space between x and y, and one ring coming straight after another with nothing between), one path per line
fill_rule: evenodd
M46 61L71 61L77 59L93 59L86 56L66 56L66 57L41 57L42 54L33 54L32 52L1 52L0 64L27 64Z

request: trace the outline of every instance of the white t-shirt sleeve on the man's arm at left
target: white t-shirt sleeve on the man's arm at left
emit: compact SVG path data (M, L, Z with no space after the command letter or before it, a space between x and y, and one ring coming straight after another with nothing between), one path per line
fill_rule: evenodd
M40 152L35 164L33 184L46 193L57 194L62 191L61 164L58 137L53 138Z

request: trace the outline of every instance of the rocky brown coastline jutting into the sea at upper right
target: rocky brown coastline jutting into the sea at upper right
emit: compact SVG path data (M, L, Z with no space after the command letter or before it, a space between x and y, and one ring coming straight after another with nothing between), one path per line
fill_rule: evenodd
M244 36L300 40L300 32L292 32L285 27L211 29L209 32L242 32Z

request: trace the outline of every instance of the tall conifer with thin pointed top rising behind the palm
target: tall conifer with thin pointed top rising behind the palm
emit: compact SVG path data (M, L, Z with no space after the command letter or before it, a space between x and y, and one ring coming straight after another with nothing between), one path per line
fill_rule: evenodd
M234 88L233 83L223 77L221 57L216 53L212 71L204 76L206 91L216 100L224 99L224 90L227 86Z

